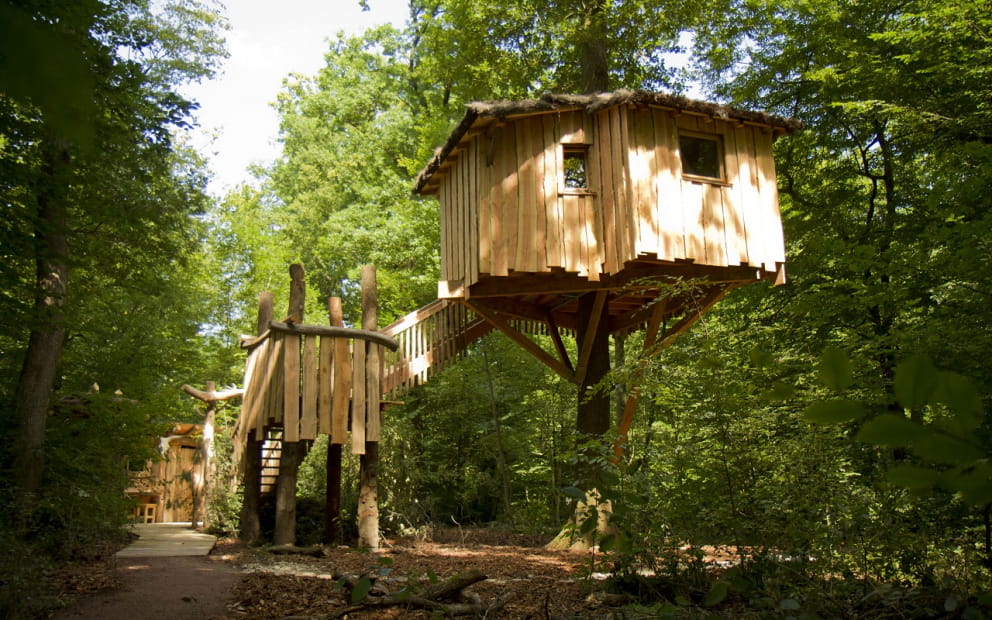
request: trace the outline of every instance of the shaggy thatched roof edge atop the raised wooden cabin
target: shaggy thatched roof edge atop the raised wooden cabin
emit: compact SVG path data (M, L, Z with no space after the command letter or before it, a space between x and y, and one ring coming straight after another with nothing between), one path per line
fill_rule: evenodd
M465 106L465 116L448 136L448 140L435 151L427 166L417 175L414 193L420 193L428 184L451 152L458 146L465 134L480 118L503 119L511 116L527 116L563 110L584 110L594 114L618 105L631 104L670 108L694 114L703 114L722 120L738 120L746 123L779 128L786 133L802 129L801 121L783 118L764 112L740 110L716 103L687 99L676 95L645 91L619 90L611 93L590 95L545 94L540 99L522 101L473 101Z

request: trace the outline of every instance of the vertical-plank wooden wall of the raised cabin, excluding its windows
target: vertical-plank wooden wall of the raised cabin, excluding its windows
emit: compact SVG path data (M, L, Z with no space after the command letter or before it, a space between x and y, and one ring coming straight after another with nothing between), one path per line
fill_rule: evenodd
M720 136L720 181L684 177L680 131ZM763 127L624 106L490 125L452 154L438 190L439 296L464 296L480 274L561 268L595 281L636 258L775 273L785 253L772 137ZM579 145L587 190L563 183L565 148Z

